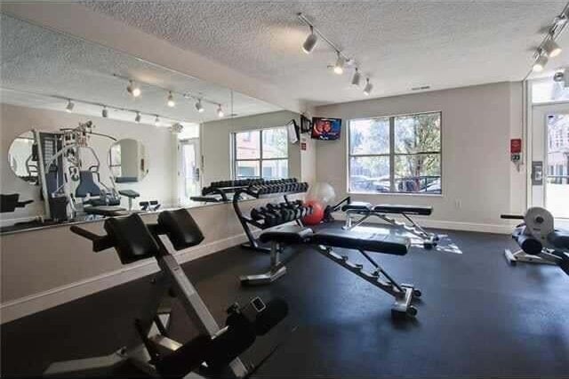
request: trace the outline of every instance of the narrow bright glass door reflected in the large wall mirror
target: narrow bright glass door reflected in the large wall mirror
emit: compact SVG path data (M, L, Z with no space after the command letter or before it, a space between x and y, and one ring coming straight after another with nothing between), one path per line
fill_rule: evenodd
M202 188L200 175L199 139L181 140L178 146L178 198L186 205L192 196L198 196Z

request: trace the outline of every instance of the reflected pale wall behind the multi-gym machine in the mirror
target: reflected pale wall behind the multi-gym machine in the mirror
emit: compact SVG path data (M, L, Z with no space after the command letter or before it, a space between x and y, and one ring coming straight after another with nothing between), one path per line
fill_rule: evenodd
M2 214L3 223L7 220L26 218L44 213L39 199L40 189L17 178L8 165L8 149L13 139L20 133L35 128L44 131L56 131L62 127L76 127L78 123L92 120L94 132L108 133L117 140L132 138L142 142L148 151L148 175L140 182L117 183L116 189L134 189L140 193L136 201L158 199L164 205L172 205L176 198L175 174L177 172L172 155L164 152L176 149L175 137L166 128L154 125L134 124L110 118L84 117L69 114L65 111L49 109L33 109L13 105L0 105L0 191L4 194L18 192L21 199L33 199L33 204L25 208L17 208L13 214ZM105 184L109 184L108 148L113 141L92 136L90 145L98 153L100 159L100 176ZM166 183L166 185L164 185ZM138 203L135 203L138 204ZM122 198L122 206L128 206L128 200Z

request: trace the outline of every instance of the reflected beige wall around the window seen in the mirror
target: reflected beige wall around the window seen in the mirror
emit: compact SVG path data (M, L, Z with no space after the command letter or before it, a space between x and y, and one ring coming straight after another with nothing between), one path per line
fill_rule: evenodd
M208 186L212 181L224 181L231 178L231 133L284 126L293 118L300 125L299 114L288 110L204 123L200 131L201 149L204 156L202 185ZM289 175L301 179L299 142L288 144L288 159Z

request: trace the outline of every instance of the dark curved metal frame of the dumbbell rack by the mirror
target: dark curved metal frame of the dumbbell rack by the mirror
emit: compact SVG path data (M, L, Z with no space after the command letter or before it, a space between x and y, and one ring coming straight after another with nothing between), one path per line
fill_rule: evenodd
M239 207L239 203L240 203L239 199L241 197L241 194L249 195L252 198L276 198L277 196L282 196L284 198L284 202L286 204L292 204L289 201L288 196L299 194L299 193L304 193L304 192L306 192L306 189L260 194L259 192L253 190L252 188L237 189L235 194L233 195L233 209L235 209L235 213L237 215L237 218L239 219L239 222L241 222L241 225L243 226L243 229L245 231L245 235L247 236L247 239L249 240L249 242L245 242L241 246L246 248L246 249L252 249L252 250L260 251L263 253L270 253L270 247L260 246L259 241L253 237L250 225L254 226L255 228L259 228L260 230L264 230L264 229L268 229L268 228L272 228L273 226L276 226L276 225L267 226L264 224L264 222L258 222L256 220L252 220L252 218L245 216L243 214L243 211ZM302 223L300 220L296 220L296 222L302 226Z

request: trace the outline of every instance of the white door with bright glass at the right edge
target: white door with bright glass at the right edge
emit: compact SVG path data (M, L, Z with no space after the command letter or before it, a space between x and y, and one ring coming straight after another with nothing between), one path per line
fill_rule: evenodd
M532 205L569 219L569 104L533 108Z

